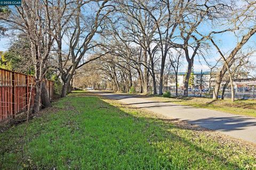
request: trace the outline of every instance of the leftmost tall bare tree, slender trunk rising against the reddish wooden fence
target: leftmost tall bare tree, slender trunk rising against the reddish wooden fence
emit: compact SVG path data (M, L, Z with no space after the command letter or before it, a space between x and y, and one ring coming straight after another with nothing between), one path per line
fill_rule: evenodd
M47 61L51 52L54 39L52 33L54 25L52 24L52 16L55 12L53 1L24 1L21 6L12 8L8 17L0 16L13 33L23 33L28 36L30 43L31 58L35 69L36 78L36 95L34 111L40 110L41 90L43 79L47 71ZM47 95L43 101L45 107L51 106Z

